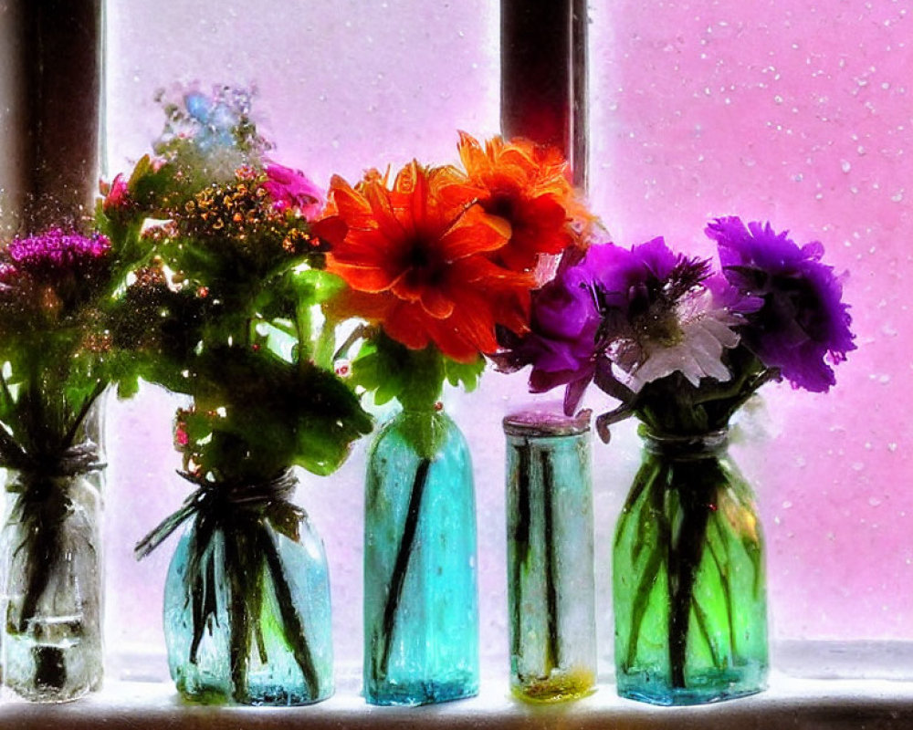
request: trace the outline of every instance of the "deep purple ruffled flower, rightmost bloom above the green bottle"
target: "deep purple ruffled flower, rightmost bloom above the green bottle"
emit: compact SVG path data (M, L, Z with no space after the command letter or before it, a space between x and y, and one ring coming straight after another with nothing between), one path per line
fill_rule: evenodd
M717 242L729 283L763 305L740 328L746 347L797 388L824 392L834 385L837 363L855 349L851 318L841 301L834 268L821 263L820 242L801 248L771 224L747 226L738 217L718 218L707 235Z

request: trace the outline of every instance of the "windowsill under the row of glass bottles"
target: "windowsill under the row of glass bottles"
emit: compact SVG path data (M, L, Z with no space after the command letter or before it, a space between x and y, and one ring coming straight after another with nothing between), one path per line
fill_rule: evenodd
M484 680L485 678L483 678ZM171 683L109 682L99 693L59 705L9 702L0 707L5 727L68 730L163 728L908 728L913 726L913 682L884 679L820 680L771 674L767 692L698 707L663 708L623 700L601 684L590 697L548 706L522 704L505 693L506 678L488 678L478 697L419 708L372 707L344 678L330 700L310 707L252 708L183 704Z

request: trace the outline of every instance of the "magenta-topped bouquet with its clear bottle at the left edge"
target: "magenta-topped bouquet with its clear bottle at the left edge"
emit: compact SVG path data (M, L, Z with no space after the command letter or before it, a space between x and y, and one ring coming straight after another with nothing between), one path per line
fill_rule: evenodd
M125 366L117 297L143 243L54 229L0 250L0 465L5 683L32 699L99 686L98 423L89 414ZM89 478L92 475L95 477Z

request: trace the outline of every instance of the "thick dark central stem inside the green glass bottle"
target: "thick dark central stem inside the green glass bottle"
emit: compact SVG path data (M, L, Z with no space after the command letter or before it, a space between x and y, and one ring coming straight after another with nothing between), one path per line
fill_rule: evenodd
M675 464L680 474L671 481L677 488L681 522L668 542L669 670L672 686L684 689L687 634L695 579L704 551L710 515L709 490L701 471L706 461Z

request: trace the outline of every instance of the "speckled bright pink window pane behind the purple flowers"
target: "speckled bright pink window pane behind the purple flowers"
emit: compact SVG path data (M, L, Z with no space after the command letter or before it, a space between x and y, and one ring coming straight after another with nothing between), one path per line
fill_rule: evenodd
M717 215L818 239L859 349L826 396L768 387L758 485L777 637L913 636L910 3L593 8L593 205L619 242L707 250ZM610 24L610 29L607 26Z

